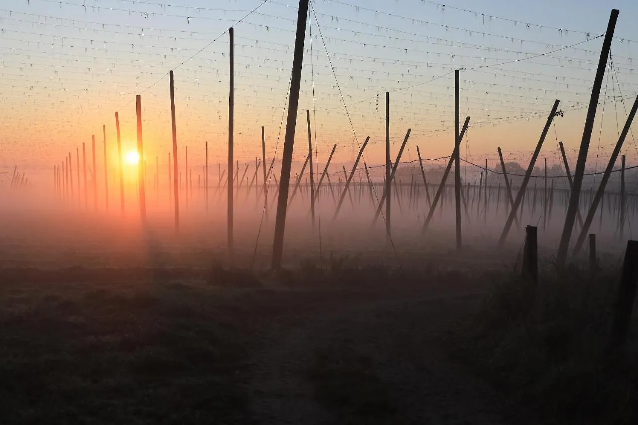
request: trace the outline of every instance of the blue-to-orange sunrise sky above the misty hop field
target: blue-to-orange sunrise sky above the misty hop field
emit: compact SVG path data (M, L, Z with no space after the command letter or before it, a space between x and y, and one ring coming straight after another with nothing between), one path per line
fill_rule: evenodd
M168 174L172 151L168 71L175 72L179 155L192 167L227 161L228 27L235 43L235 158L281 157L297 0L6 0L0 4L0 172L50 170L76 149L117 159L115 118L125 152L135 149L135 95L142 98L144 158ZM588 166L605 167L638 92L638 2L315 0L306 26L293 160L316 162L338 145L352 161L385 158L385 92L392 156L412 129L402 161L427 164L454 144L454 70L460 71L461 154L493 168L527 163L555 99L541 158L575 162L602 37L619 18L591 138ZM608 65L609 62L608 62ZM635 128L635 125L634 125ZM638 130L636 130L638 131ZM638 135L638 133L637 133ZM623 147L638 163L633 133ZM432 160L432 161L430 161ZM182 158L180 158L182 161ZM182 162L181 162L182 163ZM572 166L573 167L573 166ZM162 170L165 170L162 171ZM214 170L214 173L217 171ZM50 173L48 173L50 174ZM47 174L47 175L48 175Z

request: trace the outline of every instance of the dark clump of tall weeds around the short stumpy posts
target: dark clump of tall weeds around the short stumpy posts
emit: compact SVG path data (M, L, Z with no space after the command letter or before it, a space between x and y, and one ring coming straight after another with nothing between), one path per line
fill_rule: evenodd
M627 346L609 348L619 276L551 267L535 297L518 273L501 276L454 336L457 354L560 423L638 423L635 308Z

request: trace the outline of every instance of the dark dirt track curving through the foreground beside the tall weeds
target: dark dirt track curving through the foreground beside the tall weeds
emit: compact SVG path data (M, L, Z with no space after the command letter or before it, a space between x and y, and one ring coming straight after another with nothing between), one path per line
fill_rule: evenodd
M529 412L440 348L439 332L476 308L477 299L366 298L282 318L249 362L255 422L530 423Z

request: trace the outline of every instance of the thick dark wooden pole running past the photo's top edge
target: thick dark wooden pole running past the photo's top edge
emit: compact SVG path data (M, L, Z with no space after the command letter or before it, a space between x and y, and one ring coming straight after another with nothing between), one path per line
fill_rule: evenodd
M295 142L295 125L297 124L297 105L299 103L299 86L301 66L304 56L304 37L306 34L306 17L308 0L299 0L297 11L297 34L295 35L295 52L290 77L290 96L288 98L288 119L284 137L283 155L281 157L281 178L279 179L279 198L275 219L275 234L272 243L272 268L281 267L283 255L283 233L286 225L286 207L288 206L288 186L290 184L290 167L292 166L292 149Z

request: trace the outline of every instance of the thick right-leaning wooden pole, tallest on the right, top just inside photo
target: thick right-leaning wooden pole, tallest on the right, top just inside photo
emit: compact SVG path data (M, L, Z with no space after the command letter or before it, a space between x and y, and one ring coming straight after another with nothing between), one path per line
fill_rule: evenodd
M565 260L567 260L569 241L572 237L572 229L574 228L576 211L579 207L582 187L582 175L585 172L587 153L590 148L591 131L593 130L594 119L596 116L596 105L598 103L598 96L600 95L600 86L602 86L602 79L605 75L605 66L607 66L607 57L609 56L609 48L611 47L611 40L614 36L616 19L618 19L618 10L612 9L611 15L609 17L609 23L607 24L607 31L605 31L605 38L602 43L602 50L600 50L600 59L598 59L596 77L594 78L594 84L591 88L590 105L587 109L585 126L582 131L581 148L578 152L578 160L576 161L576 168L574 170L574 186L572 187L572 192L570 193L569 205L567 206L567 216L565 216L565 226L563 227L563 234L561 235L560 244L558 246L558 255L556 256L558 264L563 264Z

